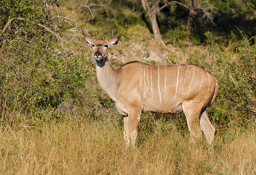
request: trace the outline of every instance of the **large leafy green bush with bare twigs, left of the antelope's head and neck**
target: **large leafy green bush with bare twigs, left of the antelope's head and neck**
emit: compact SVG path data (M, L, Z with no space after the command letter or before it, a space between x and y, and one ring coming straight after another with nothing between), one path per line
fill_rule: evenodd
M83 45L72 41L71 48L62 36L72 26L55 28L50 13L37 1L0 5L0 103L9 109L45 109L76 97L76 88L84 89L84 80L92 75L92 63Z

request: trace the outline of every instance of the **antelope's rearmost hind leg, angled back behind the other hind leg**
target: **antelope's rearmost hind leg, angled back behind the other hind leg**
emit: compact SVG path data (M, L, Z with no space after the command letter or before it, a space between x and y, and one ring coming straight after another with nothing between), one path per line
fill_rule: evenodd
M204 132L208 144L210 145L214 139L215 128L212 126L212 123L206 114L206 110L201 115L200 127Z

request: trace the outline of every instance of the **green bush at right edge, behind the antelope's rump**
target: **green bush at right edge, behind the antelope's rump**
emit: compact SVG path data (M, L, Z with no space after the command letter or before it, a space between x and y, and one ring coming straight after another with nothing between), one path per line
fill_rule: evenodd
M220 71L217 76L220 87L214 105L217 110L213 115L221 123L236 119L246 125L256 116L256 47L251 44L256 36L250 39L243 37L242 42L236 44L230 42L226 50L214 43L212 35L208 33L206 36Z

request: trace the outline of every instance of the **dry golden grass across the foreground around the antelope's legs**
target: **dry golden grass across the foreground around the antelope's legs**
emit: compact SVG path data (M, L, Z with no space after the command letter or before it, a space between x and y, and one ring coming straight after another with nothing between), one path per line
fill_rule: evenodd
M22 120L1 126L1 174L256 173L255 122L248 128L218 128L208 146L205 138L189 142L188 130L172 120L156 120L151 130L144 121L136 147L126 149L118 121L44 118L31 127L26 125L28 116L13 117Z

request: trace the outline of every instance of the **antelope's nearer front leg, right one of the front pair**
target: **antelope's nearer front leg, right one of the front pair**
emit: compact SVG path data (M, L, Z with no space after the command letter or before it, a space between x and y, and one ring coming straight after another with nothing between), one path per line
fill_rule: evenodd
M138 133L138 126L140 123L140 109L132 108L128 113L129 120L129 139L132 147L135 147L135 141Z

